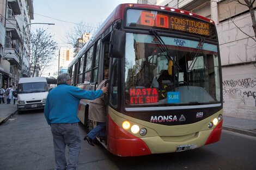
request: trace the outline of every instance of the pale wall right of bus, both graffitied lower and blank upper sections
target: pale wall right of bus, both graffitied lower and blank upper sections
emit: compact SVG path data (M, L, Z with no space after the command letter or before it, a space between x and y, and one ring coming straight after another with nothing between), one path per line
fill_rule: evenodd
M254 36L251 15L236 17L234 22L243 32ZM217 24L224 115L256 120L256 42L235 24L231 21Z

